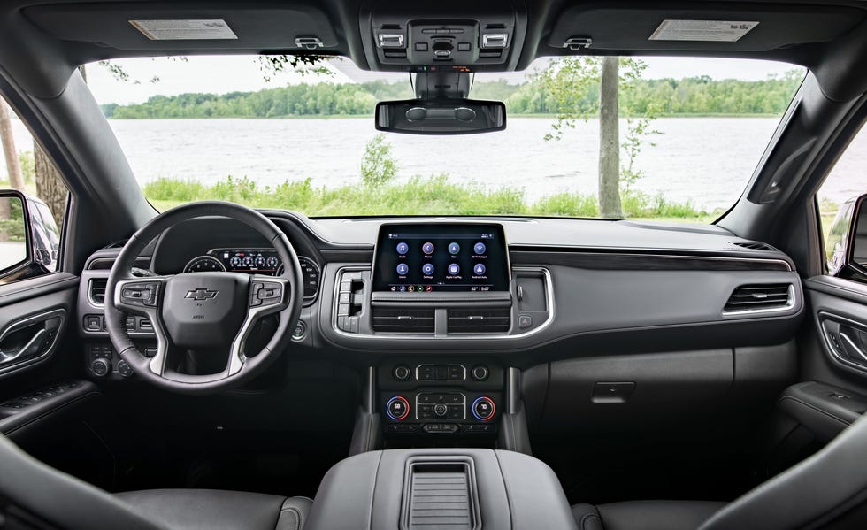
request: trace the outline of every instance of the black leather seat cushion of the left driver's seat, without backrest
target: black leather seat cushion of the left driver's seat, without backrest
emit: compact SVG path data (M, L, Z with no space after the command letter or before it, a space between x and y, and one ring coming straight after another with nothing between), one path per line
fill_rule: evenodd
M312 501L219 489L148 489L116 495L145 518L182 530L300 530Z

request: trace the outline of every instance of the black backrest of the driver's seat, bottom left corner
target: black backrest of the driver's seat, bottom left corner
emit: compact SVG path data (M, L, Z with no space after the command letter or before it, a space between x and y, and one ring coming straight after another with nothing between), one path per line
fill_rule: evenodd
M0 527L159 530L101 489L30 457L0 436Z

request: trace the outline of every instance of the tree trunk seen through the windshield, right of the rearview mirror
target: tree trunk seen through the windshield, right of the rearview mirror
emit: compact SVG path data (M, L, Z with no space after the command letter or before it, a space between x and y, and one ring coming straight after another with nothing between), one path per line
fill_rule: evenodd
M620 206L620 58L602 58L599 81L599 213L623 219Z

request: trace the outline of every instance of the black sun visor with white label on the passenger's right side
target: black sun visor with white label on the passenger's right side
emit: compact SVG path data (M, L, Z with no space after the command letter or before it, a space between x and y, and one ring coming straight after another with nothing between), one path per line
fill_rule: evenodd
M832 41L864 17L855 8L793 4L573 5L556 17L547 44L572 44L573 50L767 51Z

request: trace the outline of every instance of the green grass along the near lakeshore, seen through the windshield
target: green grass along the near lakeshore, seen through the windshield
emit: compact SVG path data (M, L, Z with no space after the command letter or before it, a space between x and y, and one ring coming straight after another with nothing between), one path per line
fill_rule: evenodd
M316 188L310 179L259 187L247 178L231 176L211 186L160 178L145 184L144 194L160 211L190 201L222 200L253 208L285 208L311 217L383 214L599 217L593 195L563 192L529 202L522 188L486 189L451 182L445 175L415 177L382 186L359 183L340 188ZM719 214L701 211L688 202L674 203L663 196L636 192L626 192L622 204L628 219L707 223Z

